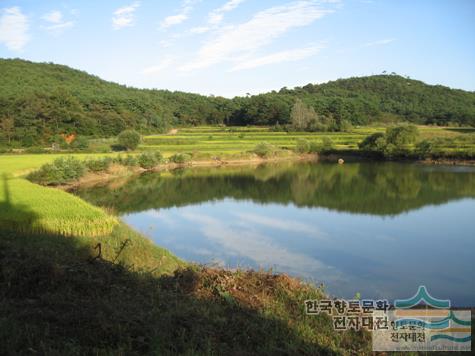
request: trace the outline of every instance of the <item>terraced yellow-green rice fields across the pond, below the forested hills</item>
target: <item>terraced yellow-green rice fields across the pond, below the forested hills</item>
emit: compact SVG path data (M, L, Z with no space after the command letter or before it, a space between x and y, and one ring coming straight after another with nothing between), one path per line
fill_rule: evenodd
M277 148L293 149L299 138L320 143L332 140L337 150L358 148L358 143L386 127L361 127L350 132L273 132L268 127L196 127L178 129L174 134L145 136L139 150L159 150L165 155L175 152L210 156L233 156L250 152L259 142ZM436 148L443 152L475 150L475 129L419 126L420 139L436 139Z

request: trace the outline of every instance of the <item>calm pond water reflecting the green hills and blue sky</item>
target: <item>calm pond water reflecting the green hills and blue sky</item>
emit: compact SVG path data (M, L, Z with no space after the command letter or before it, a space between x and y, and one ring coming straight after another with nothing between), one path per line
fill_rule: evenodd
M189 168L77 189L177 256L272 268L352 298L475 305L475 169L286 162Z

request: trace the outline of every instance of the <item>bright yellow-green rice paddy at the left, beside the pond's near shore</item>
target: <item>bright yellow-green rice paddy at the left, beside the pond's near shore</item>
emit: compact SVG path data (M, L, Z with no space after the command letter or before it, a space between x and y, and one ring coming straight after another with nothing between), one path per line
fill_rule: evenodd
M61 155L0 156L0 228L15 232L99 236L111 233L117 219L102 209L23 175ZM79 155L86 157L87 155Z

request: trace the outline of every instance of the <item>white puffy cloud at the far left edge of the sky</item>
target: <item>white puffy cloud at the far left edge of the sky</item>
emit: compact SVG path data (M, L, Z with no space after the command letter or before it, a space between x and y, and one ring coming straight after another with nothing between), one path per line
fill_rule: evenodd
M21 51L30 40L28 17L19 7L2 10L0 17L0 43L13 51Z

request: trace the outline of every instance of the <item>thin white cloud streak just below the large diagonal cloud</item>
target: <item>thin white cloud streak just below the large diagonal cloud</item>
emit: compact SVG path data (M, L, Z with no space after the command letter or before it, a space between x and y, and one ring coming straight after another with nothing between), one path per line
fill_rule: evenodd
M267 56L252 58L238 62L231 71L243 70L243 69L252 69L268 64L276 64L282 62L292 62L302 60L308 57L311 57L317 54L323 46L317 47L307 47L307 48L298 48L291 49L288 51L281 51L269 54Z

